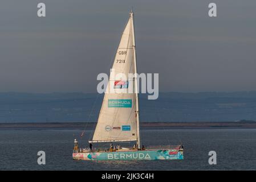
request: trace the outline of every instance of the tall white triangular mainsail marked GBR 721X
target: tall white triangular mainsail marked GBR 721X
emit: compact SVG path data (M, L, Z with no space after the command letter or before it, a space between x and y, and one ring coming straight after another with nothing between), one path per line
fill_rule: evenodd
M128 93L129 87L137 90L137 77L129 78L128 74L137 73L135 35L133 27L133 13L130 13L127 25L117 48L112 70L114 75L123 73L126 78L111 80L107 89L113 86L118 93L105 93L101 105L97 126L91 143L137 141L140 144L139 134L139 101L137 93ZM134 90L134 89L132 89Z

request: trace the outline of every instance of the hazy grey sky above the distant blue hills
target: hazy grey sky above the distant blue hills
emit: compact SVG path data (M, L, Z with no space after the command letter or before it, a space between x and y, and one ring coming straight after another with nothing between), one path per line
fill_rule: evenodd
M138 72L160 92L256 90L255 0L2 0L0 92L96 92L131 7Z

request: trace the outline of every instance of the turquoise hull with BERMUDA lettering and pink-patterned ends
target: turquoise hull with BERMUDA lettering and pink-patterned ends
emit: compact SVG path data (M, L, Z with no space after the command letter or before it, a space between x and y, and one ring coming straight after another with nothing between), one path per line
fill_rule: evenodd
M161 160L183 159L183 150L140 150L73 153L74 160Z

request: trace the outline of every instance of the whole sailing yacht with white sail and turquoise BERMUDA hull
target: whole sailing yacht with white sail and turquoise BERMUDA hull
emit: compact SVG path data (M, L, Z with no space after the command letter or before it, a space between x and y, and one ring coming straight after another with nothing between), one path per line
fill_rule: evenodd
M129 14L128 22L124 28L115 60L111 70L115 75L123 73L125 80L108 80L107 89L113 86L121 92L105 93L101 105L99 118L92 143L110 143L108 150L82 150L78 149L78 141L75 139L73 151L74 160L157 160L157 159L183 159L183 147L166 146L162 148L141 148L140 139L140 114L137 88L137 65L134 15ZM129 77L130 74L135 77ZM129 86L133 86L135 92L127 93ZM114 148L112 143L136 142L133 148Z

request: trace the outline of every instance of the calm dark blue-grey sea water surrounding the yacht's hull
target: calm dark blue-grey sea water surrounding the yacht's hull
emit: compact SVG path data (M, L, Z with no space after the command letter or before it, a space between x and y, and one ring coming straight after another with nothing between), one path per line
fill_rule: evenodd
M84 135L91 136L92 131ZM184 160L75 161L78 130L0 130L1 170L231 170L256 169L255 129L141 130L145 146L179 144ZM87 138L79 140L87 146ZM38 165L37 152L46 152L46 165ZM217 165L208 164L208 152L217 152Z

